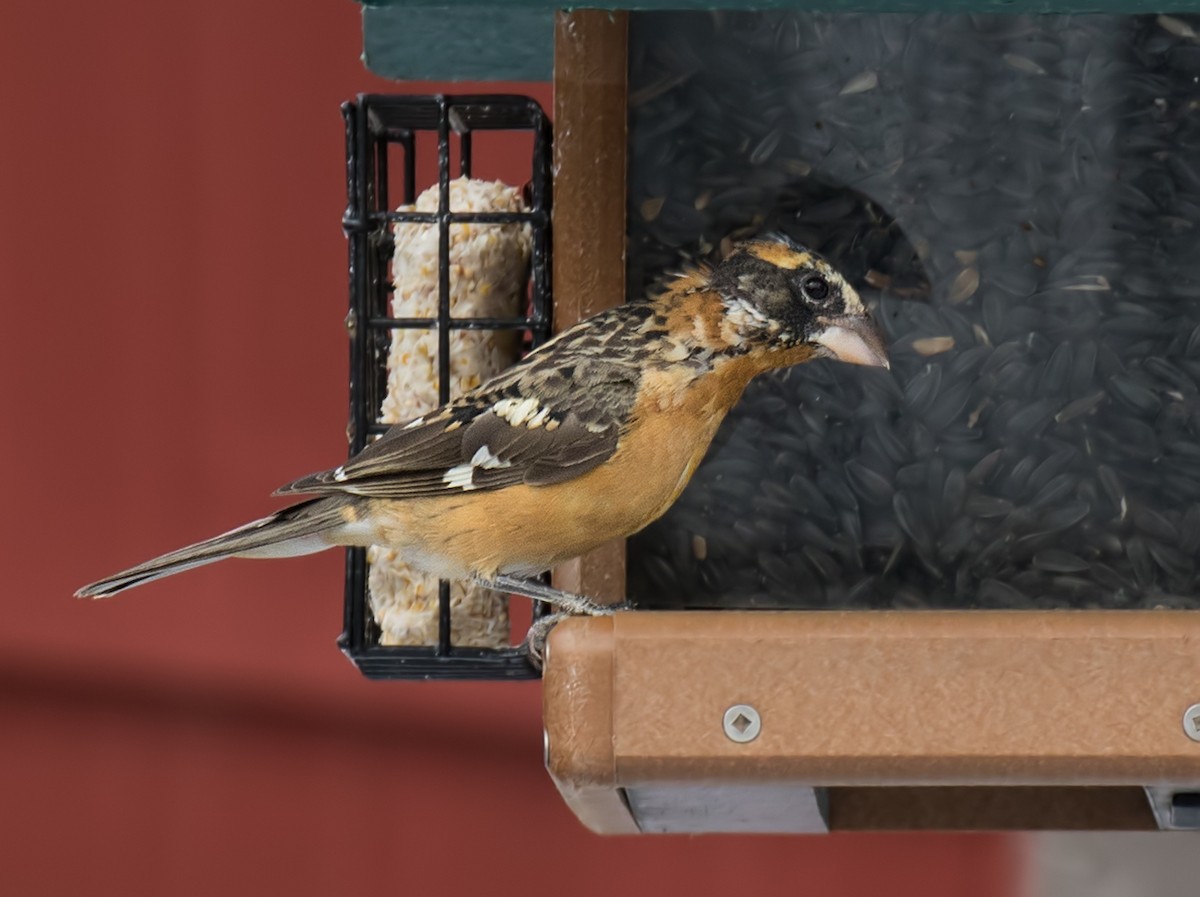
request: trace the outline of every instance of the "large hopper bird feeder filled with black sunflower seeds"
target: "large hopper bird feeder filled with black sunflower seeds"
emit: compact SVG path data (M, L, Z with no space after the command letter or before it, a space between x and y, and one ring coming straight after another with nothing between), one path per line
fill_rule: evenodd
M380 74L553 78L556 329L782 230L890 343L554 572L636 608L551 636L554 782L600 832L1200 827L1200 17L727 6L365 10Z

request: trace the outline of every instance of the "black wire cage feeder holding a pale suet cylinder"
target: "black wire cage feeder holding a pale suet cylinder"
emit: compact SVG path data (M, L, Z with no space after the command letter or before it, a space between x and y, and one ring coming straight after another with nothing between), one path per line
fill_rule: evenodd
M541 107L521 96L360 96L342 112L353 456L548 337L551 143ZM472 180L481 134L529 138L526 189ZM422 170L433 183L419 197ZM502 597L427 579L385 550L347 550L340 644L365 675L536 675L509 644Z

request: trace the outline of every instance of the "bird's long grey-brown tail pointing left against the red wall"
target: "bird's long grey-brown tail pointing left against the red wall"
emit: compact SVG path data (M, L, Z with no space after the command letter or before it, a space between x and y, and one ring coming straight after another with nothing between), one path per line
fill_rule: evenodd
M270 517L222 532L203 542L168 552L136 567L83 586L77 598L104 598L136 585L202 567L226 558L288 558L335 544L324 536L346 524L346 500L324 498L286 507Z

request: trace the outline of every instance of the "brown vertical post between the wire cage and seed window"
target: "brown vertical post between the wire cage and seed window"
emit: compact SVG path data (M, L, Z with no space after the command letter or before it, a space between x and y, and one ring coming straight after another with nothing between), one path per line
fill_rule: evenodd
M554 329L625 301L628 14L560 12L554 32ZM625 597L625 543L554 571L559 589Z

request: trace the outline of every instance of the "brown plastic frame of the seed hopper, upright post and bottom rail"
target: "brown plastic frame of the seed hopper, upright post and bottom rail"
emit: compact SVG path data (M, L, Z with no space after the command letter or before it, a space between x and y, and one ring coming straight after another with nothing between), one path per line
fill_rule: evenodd
M624 13L560 14L556 320L624 300ZM619 601L624 544L556 571ZM545 670L547 767L580 819L624 789L829 788L832 829L1154 829L1142 785L1200 783L1189 612L709 612L571 619ZM721 717L754 705L734 744Z

